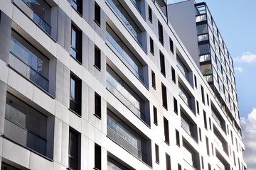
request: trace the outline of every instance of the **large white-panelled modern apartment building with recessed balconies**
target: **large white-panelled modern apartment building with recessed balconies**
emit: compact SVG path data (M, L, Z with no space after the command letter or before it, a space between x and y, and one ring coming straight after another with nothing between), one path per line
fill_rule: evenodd
M201 30L208 8L188 2ZM165 0L1 1L1 169L246 169L232 59L213 31L222 71L206 72L214 55L196 52L210 31L189 44L171 12Z

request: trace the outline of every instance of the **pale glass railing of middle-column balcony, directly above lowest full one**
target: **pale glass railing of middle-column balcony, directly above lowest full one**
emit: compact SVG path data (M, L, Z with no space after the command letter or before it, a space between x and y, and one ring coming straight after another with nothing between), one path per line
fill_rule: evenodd
M141 111L141 107L143 103L141 103L141 101L137 99L138 97L135 98L130 91L124 88L124 86L127 86L127 85L124 84L122 80L115 79L115 76L110 74L110 72L107 72L107 89L116 98L118 98L119 101L121 101L125 106L127 106L127 108L129 108L129 110L132 111L132 113L137 115L137 117L141 118L145 122L146 115Z

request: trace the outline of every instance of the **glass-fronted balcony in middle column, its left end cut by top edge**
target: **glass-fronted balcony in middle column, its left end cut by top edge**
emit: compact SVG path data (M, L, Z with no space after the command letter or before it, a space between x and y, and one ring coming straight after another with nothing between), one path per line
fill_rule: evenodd
M135 40L142 45L142 30L140 30L137 24L134 23L132 17L129 16L125 8L119 3L118 0L107 0L107 2L110 4L117 16L119 16L119 18L123 21L124 25L127 26Z

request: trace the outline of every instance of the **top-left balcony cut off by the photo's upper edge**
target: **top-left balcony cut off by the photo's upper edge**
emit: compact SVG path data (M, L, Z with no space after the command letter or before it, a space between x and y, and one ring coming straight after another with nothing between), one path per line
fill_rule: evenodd
M43 0L12 0L13 3L33 20L48 35L51 35L51 7Z

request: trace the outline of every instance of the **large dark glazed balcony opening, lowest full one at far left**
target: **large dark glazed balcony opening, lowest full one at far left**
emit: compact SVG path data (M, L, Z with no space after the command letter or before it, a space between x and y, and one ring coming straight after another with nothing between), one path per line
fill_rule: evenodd
M7 93L4 136L14 142L47 156L48 117Z

